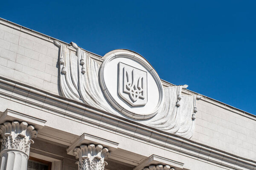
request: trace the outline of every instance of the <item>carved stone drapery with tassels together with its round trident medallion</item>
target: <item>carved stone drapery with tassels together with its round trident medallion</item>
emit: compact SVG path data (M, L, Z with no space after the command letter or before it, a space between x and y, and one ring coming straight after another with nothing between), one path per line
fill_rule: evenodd
M154 68L127 50L109 52L99 65L73 42L76 54L68 45L55 44L60 47L59 81L64 97L167 133L192 137L196 96L181 93L188 85L163 88Z

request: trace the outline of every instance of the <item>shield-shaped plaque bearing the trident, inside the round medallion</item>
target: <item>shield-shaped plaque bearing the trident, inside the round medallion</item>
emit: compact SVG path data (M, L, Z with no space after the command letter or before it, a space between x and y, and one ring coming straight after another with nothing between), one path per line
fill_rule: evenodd
M147 103L147 72L119 62L119 96L132 106Z

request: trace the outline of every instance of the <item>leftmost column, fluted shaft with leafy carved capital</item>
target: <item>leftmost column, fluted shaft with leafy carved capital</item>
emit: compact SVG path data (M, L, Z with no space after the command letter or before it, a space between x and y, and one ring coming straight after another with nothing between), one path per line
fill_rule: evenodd
M0 152L0 170L26 170L30 144L37 130L26 122L4 122L0 125L2 147Z

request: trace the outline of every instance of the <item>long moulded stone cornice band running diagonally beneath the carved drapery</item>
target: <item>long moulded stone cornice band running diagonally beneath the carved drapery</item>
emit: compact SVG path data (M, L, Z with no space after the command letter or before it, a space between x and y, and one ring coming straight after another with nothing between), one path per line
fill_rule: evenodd
M256 170L256 161L244 159L174 134L164 133L137 122L114 116L82 103L55 96L21 83L15 83L8 79L0 78L0 96L24 105L31 105L34 108L58 116L65 116L66 119L72 119L90 126L96 125L100 129L108 130L121 136L160 147L192 159L198 159L230 169L235 166L236 170L243 168ZM54 107L50 107L51 104L54 104ZM72 112L74 109L76 112ZM81 116L79 113L84 116Z

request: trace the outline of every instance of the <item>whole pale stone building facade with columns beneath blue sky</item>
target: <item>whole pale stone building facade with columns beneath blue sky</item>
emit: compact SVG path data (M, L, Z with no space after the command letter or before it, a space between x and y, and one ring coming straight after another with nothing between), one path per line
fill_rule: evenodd
M256 116L0 19L0 170L256 170Z

